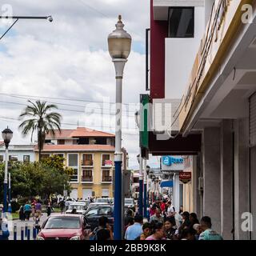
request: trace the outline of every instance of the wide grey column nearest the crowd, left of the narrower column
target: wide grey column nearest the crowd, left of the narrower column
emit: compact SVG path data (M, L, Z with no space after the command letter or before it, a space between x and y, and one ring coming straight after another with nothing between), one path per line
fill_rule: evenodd
M203 215L209 216L213 229L221 230L221 190L220 190L220 129L205 128L202 134L203 166Z

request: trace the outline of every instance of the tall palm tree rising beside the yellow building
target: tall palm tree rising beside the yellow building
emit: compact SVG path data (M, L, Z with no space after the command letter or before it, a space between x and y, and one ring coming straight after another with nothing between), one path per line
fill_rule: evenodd
M20 114L19 118L27 118L24 120L18 128L22 129L22 134L26 136L31 132L31 142L33 140L34 131L38 132L38 150L39 161L41 160L41 152L43 150L43 144L45 143L46 134L55 135L54 129L58 129L61 132L61 118L62 115L57 112L50 112L50 110L57 109L58 106L53 104L47 104L47 102L36 101L30 102L30 105L26 106L26 109Z

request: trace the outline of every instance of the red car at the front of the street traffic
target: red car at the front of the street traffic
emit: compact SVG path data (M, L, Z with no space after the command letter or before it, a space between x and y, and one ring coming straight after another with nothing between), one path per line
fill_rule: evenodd
M37 240L85 240L90 226L81 214L54 214L42 224Z

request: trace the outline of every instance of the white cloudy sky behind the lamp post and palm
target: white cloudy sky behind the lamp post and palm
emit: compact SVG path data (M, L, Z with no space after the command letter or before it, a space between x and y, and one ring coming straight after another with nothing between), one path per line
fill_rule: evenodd
M115 100L114 66L106 38L114 30L118 14L122 14L125 29L133 38L125 68L123 102L134 103L123 111L128 117L123 119L122 146L130 154L130 166L138 166L134 110L139 94L146 93L145 30L150 24L149 3L150 0L8 0L0 4L2 15L6 15L6 5L10 5L14 15L54 18L52 23L20 20L0 41L0 129L10 126L14 130L13 144L30 142L30 138L22 138L15 120L29 98L56 103L63 117L62 128L73 129L79 124L114 132L110 129L114 116L95 113L102 111L99 102ZM9 26L0 21L1 34ZM108 106L104 106L106 113ZM110 106L110 114L114 114L114 105ZM151 158L150 165L157 166L158 159Z

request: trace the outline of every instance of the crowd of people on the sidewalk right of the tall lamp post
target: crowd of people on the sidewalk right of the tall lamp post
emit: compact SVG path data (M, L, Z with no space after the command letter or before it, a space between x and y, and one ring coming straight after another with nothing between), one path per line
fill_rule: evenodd
M195 213L177 212L169 200L150 203L150 218L143 223L142 216L130 210L126 214L126 240L222 240L222 236L212 229L208 216L200 222Z

